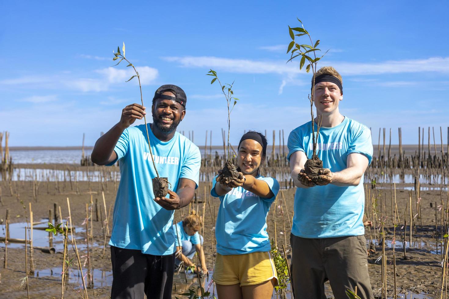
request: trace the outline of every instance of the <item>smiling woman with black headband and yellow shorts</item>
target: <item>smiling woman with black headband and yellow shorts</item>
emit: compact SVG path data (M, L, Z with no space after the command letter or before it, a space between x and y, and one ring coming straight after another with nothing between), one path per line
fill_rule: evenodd
M266 150L264 135L253 131L244 134L238 144L239 178L228 184L224 180L217 183L218 176L212 181L211 195L221 201L213 273L219 299L271 298L277 283L266 218L279 183L260 175Z

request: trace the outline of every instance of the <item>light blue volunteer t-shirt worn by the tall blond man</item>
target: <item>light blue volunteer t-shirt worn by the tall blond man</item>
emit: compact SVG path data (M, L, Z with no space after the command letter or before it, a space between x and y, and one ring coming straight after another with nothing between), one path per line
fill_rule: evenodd
M312 158L311 121L291 131L287 146L289 160L291 154L297 151L305 152L308 158ZM360 122L345 117L342 123L333 128L320 129L318 149L317 154L323 161L323 167L332 172L346 169L347 158L351 153L365 155L371 163L371 131ZM306 189L296 188L291 233L301 238L365 234L362 221L364 206L363 176L357 186L329 184Z

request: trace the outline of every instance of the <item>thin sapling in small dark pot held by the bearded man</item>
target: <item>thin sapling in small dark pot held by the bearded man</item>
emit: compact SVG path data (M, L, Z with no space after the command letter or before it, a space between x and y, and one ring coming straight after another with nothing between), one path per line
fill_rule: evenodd
M134 67L134 65L132 65L131 62L128 61L128 59L125 57L125 43L123 43L123 48L122 48L122 52L120 52L120 47L117 47L117 52L114 52L114 58L112 60L117 60L120 59L119 62L116 64L118 65L122 60L125 60L126 62L128 62L127 67L132 67L132 69L134 69L134 72L136 73L135 75L133 75L131 78L128 79L128 81L131 81L134 77L137 77L137 80L139 80L139 88L140 88L140 93L141 93L141 103L143 106L143 97L142 97L142 85L140 82L140 75L139 72L137 72L136 68ZM115 65L114 65L115 66ZM128 82L126 81L126 82ZM156 164L154 163L154 158L153 158L153 152L151 152L151 146L150 146L150 136L148 135L148 126L146 124L146 117L145 114L143 115L144 118L144 122L145 122L145 129L146 129L146 138L148 140L148 147L150 148L150 156L151 156L151 160L153 161L153 166L154 166L154 170L156 171L156 178L152 179L152 183L153 183L153 193L154 193L154 197L155 198L163 198L167 195L168 193L168 178L161 178L159 177L159 173L158 173L158 169L156 169Z

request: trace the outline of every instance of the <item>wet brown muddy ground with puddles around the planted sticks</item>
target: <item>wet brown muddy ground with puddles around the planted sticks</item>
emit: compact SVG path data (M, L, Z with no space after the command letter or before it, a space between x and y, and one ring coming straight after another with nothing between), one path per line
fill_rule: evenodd
M85 251L85 230L82 229L84 227L84 220L86 218L86 204L90 205L91 195L92 201L94 203L93 207L95 207L95 202L98 200L98 208L103 206L103 199L101 195L101 186L99 187L97 183L91 183L90 191L88 182L77 182L72 183L72 187L70 186L70 182L66 182L65 186L63 186L63 182L59 182L59 191L55 188L54 182L41 182L39 186L39 192L37 196L37 201L33 199L33 186L31 182L14 182L12 189L14 195L10 194L9 185L5 182L0 182L2 186L2 203L3 205L0 208L0 218L4 221L6 209L9 209L10 212L10 223L20 223L29 221L29 203L31 202L31 207L34 215L34 221L44 220L48 218L48 210L53 209L53 204L56 203L57 206L61 207L62 210L62 218L66 219L68 216L67 209L67 197L70 199L70 207L71 207L71 215L73 220L73 225L76 226L75 234L77 236L77 245L80 247L80 256L81 263L84 263L86 260L86 251ZM49 184L49 185L47 185ZM194 208L201 211L202 213L202 202L204 201L204 190L206 189L206 203L210 203L205 205L205 229L204 229L204 250L207 260L207 266L209 269L212 269L212 242L211 242L211 228L212 222L215 221L216 212L218 211L219 201L217 199L210 198L209 196L209 185L210 183L201 183L197 190L197 202L194 203ZM109 211L110 206L112 207L110 211L112 212L114 199L115 199L115 188L118 184L114 184L114 182L108 182L107 190L105 186L105 199L106 199L106 208ZM410 187L411 185L398 184L396 185L396 200L401 223L403 224L403 214L405 211L406 204L409 202L409 191L405 190L404 187ZM380 186L378 186L380 187ZM383 207L383 219L386 223L386 230L393 230L393 225L391 223L391 201L390 201L390 184L384 184L385 189L380 189L380 196L378 193L378 215L380 218L380 197L382 200ZM100 188L100 189L99 189ZM370 186L368 186L370 188ZM100 192L98 192L100 190ZM446 191L443 192L443 200L446 205L446 200L448 198ZM19 196L17 196L19 194ZM370 191L370 194L373 194L373 191ZM274 237L274 223L276 223L277 230L277 243L282 248L282 244L286 243L287 251L290 252L289 248L289 236L290 236L290 217L293 212L293 198L294 198L294 189L287 189L283 191L283 195L286 199L286 206L281 204L280 200L282 196L278 197L278 201L276 206L273 204L269 216L267 218L268 222L268 233L270 238ZM397 231L396 235L396 267L397 267L397 275L396 275L396 285L399 293L409 294L410 291L413 294L419 294L416 298L433 298L434 296L439 296L440 294L440 284L441 284L441 275L442 275L442 267L440 262L442 260L441 257L441 249L438 245L438 254L436 254L436 210L435 210L435 202L437 205L441 202L440 191L422 191L421 192L421 212L422 219L421 222L423 225L419 225L417 223L417 234L413 235L413 246L415 248L409 248L409 244L407 242L406 245L406 255L409 258L408 260L403 260L404 256L401 237L399 231ZM430 204L432 203L433 207L431 208ZM413 205L415 205L413 201ZM276 208L275 208L276 207ZM280 207L283 210L283 216ZM313 207L311 207L313 208ZM386 212L385 212L386 209ZM186 216L188 214L189 207L183 208L181 211L175 212L176 221L180 221L181 216ZM288 211L288 212L287 212ZM102 211L104 213L104 211ZM100 213L100 211L99 211ZM367 209L368 214L372 214L370 209ZM88 289L88 295L92 298L108 298L110 295L110 282L112 280L110 276L111 264L110 264L110 251L109 247L106 245L105 255L103 256L103 232L101 228L101 219L97 221L95 208L92 211L92 226L93 226L93 241L96 246L93 249L93 264L95 273L94 273L94 288ZM369 215L369 216L370 216ZM387 215L387 217L385 216ZM390 215L390 216L388 216ZM385 218L386 217L386 218ZM409 216L408 216L409 217ZM27 219L28 218L28 219ZM369 217L370 220L372 217ZM440 231L440 211L437 210L437 221L438 228ZM109 222L112 222L110 218ZM417 221L419 222L419 221ZM4 222L2 223L4 225ZM90 222L88 222L90 227ZM42 226L42 225L37 225ZM285 226L285 231L284 231ZM402 226L402 225L401 225ZM396 227L396 230L399 230L401 226ZM4 226L2 226L4 227ZM110 225L111 227L111 225ZM17 231L17 232L16 232ZM41 231L40 234L34 230L35 236L33 240L36 243L47 243L48 237L47 234ZM403 231L403 230L402 230ZM213 231L212 231L213 232ZM408 232L408 225L407 225ZM17 235L13 235L17 234ZM371 236L371 237L370 237ZM4 237L4 230L0 231L0 237ZM374 239L374 230L366 229L365 237L367 240L370 238ZM24 229L22 232L20 229L16 229L10 232L10 238L24 238ZM40 238L40 239L36 239ZM387 255L387 286L389 290L389 295L392 295L393 290L393 267L392 267L392 248L391 248L391 239L392 233L387 235L387 246L386 255ZM108 239L109 240L109 239ZM108 241L107 240L107 241ZM407 239L408 240L408 239ZM106 241L106 242L107 242ZM390 243L388 243L388 241ZM369 242L369 241L368 241ZM376 241L374 240L374 243ZM62 247L62 237L60 235L56 236L54 239L54 245L57 248ZM367 246L369 248L369 246ZM374 294L379 294L379 289L381 287L381 263L376 260L381 255L381 246L371 247L375 249L375 252L371 252L368 257L369 262L369 271L371 283L373 286ZM215 252L215 248L214 248ZM21 286L21 280L25 277L25 251L24 244L13 244L9 243L8 247L8 260L7 260L7 268L3 269L4 263L4 243L1 243L0 247L0 256L1 256L1 284L0 284L0 298L26 298L27 292L25 288L25 284ZM287 253L288 256L289 253ZM69 248L69 258L74 257L73 249ZM28 259L30 256L28 256ZM35 274L30 275L28 279L30 298L60 298L61 297L61 267L62 267L62 253L48 254L44 253L40 250L35 249L33 251L33 259L35 265ZM79 286L81 285L81 280L78 277L78 272L76 270L76 260L72 261L72 270L69 273L70 284L66 285L65 297L66 298L79 298L77 291L79 291ZM53 273L52 273L53 271ZM39 272L39 276L37 273ZM85 274L85 273L84 273ZM177 275L175 278L176 286L173 286L173 296L185 290L189 285L197 285L196 280L193 281L193 275L188 274L188 284L182 282L185 278L184 275ZM203 279L204 280L204 279ZM205 284L203 282L203 284ZM207 285L207 282L206 282ZM176 290L175 290L176 287ZM206 286L207 287L207 286ZM331 293L329 292L329 297ZM424 295L426 294L426 295ZM437 294L437 295L435 295ZM409 298L410 295L407 295ZM185 298L183 296L178 295L180 298ZM173 297L174 298L174 297Z

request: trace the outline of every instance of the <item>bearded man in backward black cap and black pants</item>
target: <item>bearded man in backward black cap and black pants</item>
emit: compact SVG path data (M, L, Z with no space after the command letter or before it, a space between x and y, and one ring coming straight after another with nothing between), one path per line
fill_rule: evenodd
M119 123L101 136L92 151L98 165L120 161L120 185L114 205L111 246L111 298L171 298L175 262L173 210L190 203L198 188L201 155L189 139L176 132L185 116L187 98L176 85L154 93L148 124L151 152L159 176L168 178L169 198L154 198L156 177L142 119L145 107L123 108ZM173 191L172 191L173 190ZM176 191L176 192L174 192Z

